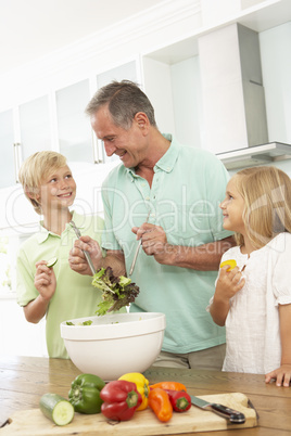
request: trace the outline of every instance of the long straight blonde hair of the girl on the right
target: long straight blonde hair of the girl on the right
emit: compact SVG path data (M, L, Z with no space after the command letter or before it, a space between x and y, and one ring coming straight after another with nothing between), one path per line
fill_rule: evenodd
M273 166L245 168L235 176L244 198L243 222L253 246L262 248L282 232L291 233L291 180ZM238 245L243 235L235 234Z

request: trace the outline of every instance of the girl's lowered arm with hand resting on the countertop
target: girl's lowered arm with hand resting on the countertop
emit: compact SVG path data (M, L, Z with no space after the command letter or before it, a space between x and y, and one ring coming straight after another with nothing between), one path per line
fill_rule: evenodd
M279 305L280 339L281 339L281 367L269 372L265 382L276 380L277 386L290 386L291 381L291 304Z

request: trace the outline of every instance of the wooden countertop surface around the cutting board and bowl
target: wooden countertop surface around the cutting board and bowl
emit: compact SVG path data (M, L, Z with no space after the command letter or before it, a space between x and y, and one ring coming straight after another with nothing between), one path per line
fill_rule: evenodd
M12 413L38 408L46 393L67 397L72 381L80 373L71 360L0 356L0 426ZM193 433L201 436L283 436L291 433L291 388L266 385L263 375L151 367L150 383L175 380L189 394L211 395L240 392L258 413L258 426L245 429ZM191 435L190 433L188 433Z

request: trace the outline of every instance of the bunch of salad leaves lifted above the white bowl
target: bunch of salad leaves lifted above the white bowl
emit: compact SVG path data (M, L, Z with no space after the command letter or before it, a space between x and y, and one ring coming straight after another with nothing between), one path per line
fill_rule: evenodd
M111 267L98 270L93 275L92 285L102 291L103 302L98 305L98 316L128 306L139 294L139 287L131 283L130 279L114 275Z

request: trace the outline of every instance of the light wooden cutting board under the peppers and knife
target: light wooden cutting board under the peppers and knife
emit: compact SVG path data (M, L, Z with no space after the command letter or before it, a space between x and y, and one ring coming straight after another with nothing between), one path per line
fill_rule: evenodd
M192 406L187 412L173 413L167 423L160 422L152 410L147 409L136 412L130 421L107 421L99 414L75 413L71 424L65 426L54 425L39 409L15 412L9 425L1 429L1 436L53 436L53 435L170 435L179 433L210 432L227 428L245 428L257 425L256 412L248 408L248 397L244 394L219 394L201 396L207 401L220 402L232 409L239 410L245 415L244 424L230 424L224 418Z

